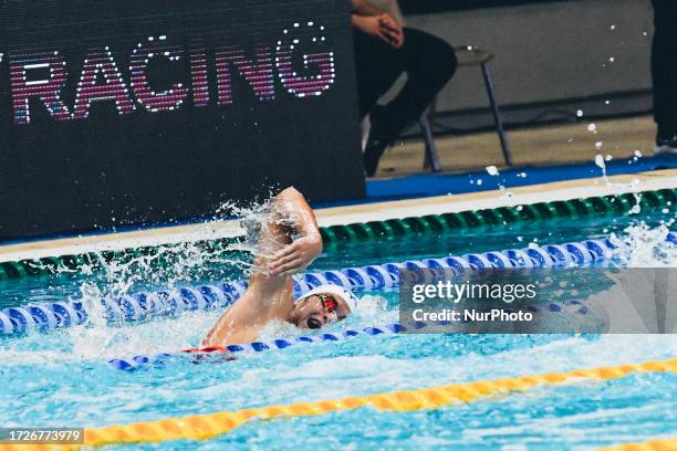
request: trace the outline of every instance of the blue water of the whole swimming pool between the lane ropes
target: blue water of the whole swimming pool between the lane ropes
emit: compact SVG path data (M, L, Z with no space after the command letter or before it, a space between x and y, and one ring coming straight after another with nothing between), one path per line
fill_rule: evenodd
M640 243L635 249L660 249L659 253L626 255L631 264L675 266L675 252L664 242L666 224L671 226L675 214L669 204L632 216L582 216L575 221L553 218L381 241L345 241L327 245L311 270L581 241L612 233ZM236 253L233 248L206 252L181 244L160 254L163 259L124 264L113 261L102 269L4 280L0 282L0 306L238 280L249 262L247 254ZM392 290L365 293L357 314L329 332L395 323L396 307L397 293ZM677 339L670 335L378 334L238 354L229 361L174 358L121 371L112 369L107 360L195 347L219 313L189 312L123 325L107 324L95 311L90 313L86 326L0 338L4 426L100 428L677 356ZM299 335L278 325L269 327L262 339ZM675 373L633 373L605 381L539 386L437 409L394 412L363 407L250 421L207 441L176 440L134 448L592 448L675 437L676 388Z

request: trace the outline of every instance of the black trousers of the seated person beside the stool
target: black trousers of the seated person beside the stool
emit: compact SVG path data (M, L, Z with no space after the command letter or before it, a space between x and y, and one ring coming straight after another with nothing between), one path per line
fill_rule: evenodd
M372 117L373 129L387 141L420 117L457 67L454 48L441 39L409 28L404 29L404 45L395 49L378 38L354 32L361 117L407 73L399 94L379 109L377 118Z

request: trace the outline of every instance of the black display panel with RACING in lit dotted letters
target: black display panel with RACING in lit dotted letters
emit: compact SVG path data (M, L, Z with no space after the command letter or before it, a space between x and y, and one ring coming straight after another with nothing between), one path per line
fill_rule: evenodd
M0 239L364 196L345 0L4 0Z

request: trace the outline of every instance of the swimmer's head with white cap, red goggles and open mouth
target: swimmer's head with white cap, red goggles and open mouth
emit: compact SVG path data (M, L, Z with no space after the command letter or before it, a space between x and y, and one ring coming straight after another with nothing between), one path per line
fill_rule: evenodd
M294 303L290 322L301 328L316 329L337 323L355 311L357 297L338 285L320 285Z

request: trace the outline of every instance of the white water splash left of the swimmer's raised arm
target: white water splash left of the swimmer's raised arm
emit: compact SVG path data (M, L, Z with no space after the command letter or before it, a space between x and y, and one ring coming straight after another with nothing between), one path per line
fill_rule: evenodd
M82 282L80 286L79 301L88 312L88 322L67 329L73 353L86 359L125 353L176 352L196 346L216 322L219 312L195 312L152 324L110 324L101 300L143 290L192 285L195 280L222 282L246 279L254 269L252 255L271 251L260 245L267 241L260 240L261 231L268 221L279 216L271 208L270 199L248 206L225 203L218 214L241 218L244 240L230 243L211 241L205 245L215 229L213 222L219 220L215 217L194 233L191 241L160 245L147 254L122 261L106 261L100 255L101 268L96 273L88 269L96 277Z

